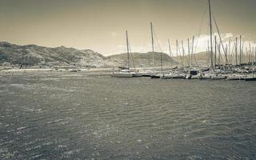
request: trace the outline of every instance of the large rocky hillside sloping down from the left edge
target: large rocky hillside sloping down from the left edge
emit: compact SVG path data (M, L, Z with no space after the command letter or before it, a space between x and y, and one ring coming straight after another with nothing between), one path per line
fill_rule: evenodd
M8 42L0 42L0 63L22 66L111 66L102 54L93 50L77 50L65 46L18 46Z

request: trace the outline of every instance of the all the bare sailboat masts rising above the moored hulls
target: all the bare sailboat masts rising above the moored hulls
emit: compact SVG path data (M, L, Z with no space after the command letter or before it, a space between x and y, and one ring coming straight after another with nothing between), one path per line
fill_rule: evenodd
M231 38L228 43L222 41L222 37L219 33L219 29L217 23L214 19L214 23L216 25L216 29L218 30L217 34L213 33L213 22L212 22L212 12L210 6L210 0L208 0L209 6L209 22L210 22L210 42L208 42L207 47L207 56L208 56L208 63L210 69L215 70L219 66L230 66L230 65L245 65L245 64L256 64L256 47L252 47L249 44L245 46L244 42L242 42L242 35L240 35L239 40L238 38L234 39L234 44L231 45ZM154 65L154 29L153 24L150 22L150 34L151 34L151 46L152 46L152 65L153 71L155 70ZM184 46L184 42L182 41L182 49L180 49L180 44L178 40L176 40L176 58L180 58L182 66L191 66L193 64L197 65L197 59L194 55L194 39L193 36L192 42L190 38L187 39L187 52ZM167 39L169 54L170 57L174 57L171 52L170 48L170 39ZM209 44L210 43L210 44ZM130 68L130 56L129 56L129 41L128 41L128 34L126 31L126 46L127 46L127 64L128 68ZM233 47L231 47L233 46ZM244 50L245 49L245 50ZM150 57L149 57L150 58ZM194 63L193 63L194 61ZM150 65L150 63L149 63ZM161 70L162 70L162 51L161 51Z

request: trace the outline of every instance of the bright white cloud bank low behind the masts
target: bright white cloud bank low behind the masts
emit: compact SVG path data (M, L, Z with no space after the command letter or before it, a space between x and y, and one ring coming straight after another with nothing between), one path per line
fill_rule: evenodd
M216 36L217 38L217 42L219 43L219 37L217 33L214 33L214 36ZM238 49L240 48L239 46L239 37L240 35L234 35L232 33L226 33L226 34L221 34L221 38L222 38L222 43L224 48L226 46L229 46L229 41L230 41L230 48L231 48L231 52L232 50L234 51L234 42L235 42L235 38L238 38ZM188 42L187 39L185 40L178 40L178 46L179 46L179 52L178 55L182 54L182 41L183 41L183 47L185 50L185 54L188 54ZM173 56L177 55L177 51L176 51L176 40L174 39L170 39L170 51L169 51L169 46L166 41L161 41L158 40L158 43L155 43L154 46L154 50L156 52L164 52L166 54L169 54L171 52L171 54ZM251 46L251 48L256 47L256 43L255 42L251 42L251 41L246 41L245 37L242 37L242 42L244 43L244 49L246 49L246 47L249 49L249 47ZM210 46L210 35L206 35L206 34L202 34L199 37L194 37L194 53L200 53L200 52L204 52L206 50L208 50L208 43ZM213 38L213 46L214 46L214 38ZM191 52L191 48L192 48L192 38L190 38L190 52ZM139 53L146 53L146 52L150 52L152 51L152 46L150 42L144 42L143 44L138 44L135 45L133 44L132 46L130 46L130 52L139 52ZM223 52L223 49L222 49ZM118 46L113 46L112 50L110 50L108 52L110 54L120 54L120 53L126 53L126 45L118 45Z

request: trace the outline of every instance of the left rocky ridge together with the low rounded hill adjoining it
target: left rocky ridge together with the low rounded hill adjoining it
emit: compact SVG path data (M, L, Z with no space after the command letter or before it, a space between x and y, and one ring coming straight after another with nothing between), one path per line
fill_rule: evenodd
M153 54L131 53L130 66L153 66ZM160 66L161 53L154 53L154 66ZM162 54L163 66L174 66L177 62L167 54ZM0 42L0 66L72 66L72 67L114 67L126 66L127 54L104 57L93 50L77 50L65 46L45 47L36 45L18 46Z

